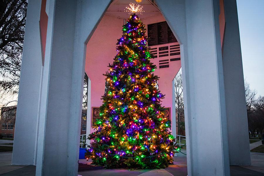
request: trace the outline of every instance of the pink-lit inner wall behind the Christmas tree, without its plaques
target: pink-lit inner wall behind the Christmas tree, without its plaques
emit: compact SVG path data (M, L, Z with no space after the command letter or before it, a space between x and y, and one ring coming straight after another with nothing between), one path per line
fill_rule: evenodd
M162 15L142 19L142 22L146 25L146 28L148 24L162 21L165 21ZM105 76L103 76L103 74L109 69L109 67L107 67L108 63L113 62L113 58L117 53L116 43L117 39L122 35L123 23L123 19L104 15L96 30L94 31L94 34L87 43L85 72L91 80L89 82L91 84L91 103L90 107L87 107L90 108L91 111L90 119L87 118L87 120L91 121L90 124L92 124L92 107L99 107L102 104L101 96L104 94L105 87ZM175 43L171 43L171 45L172 44L175 45ZM152 48L154 47L156 48L156 46L152 46ZM180 55L177 55L176 57L180 57ZM154 62L157 67L159 67L158 59L153 59L152 62ZM180 60L173 61L170 62L169 68L157 68L154 72L155 75L160 77L160 80L158 81L160 91L166 95L162 100L162 105L165 107L170 107L171 110L174 110L174 108L172 108L172 101L174 101L172 100L172 91L174 91L172 89L172 81L177 72L180 70L180 67ZM87 116L88 115L89 114L87 114ZM89 129L88 126L87 129ZM93 131L94 129L91 128L90 132L92 133Z

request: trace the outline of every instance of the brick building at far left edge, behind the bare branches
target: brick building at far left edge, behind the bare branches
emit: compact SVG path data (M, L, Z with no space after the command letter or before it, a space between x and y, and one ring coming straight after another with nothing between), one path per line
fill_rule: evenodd
M15 133L16 106L1 108L0 135L3 138L13 138Z

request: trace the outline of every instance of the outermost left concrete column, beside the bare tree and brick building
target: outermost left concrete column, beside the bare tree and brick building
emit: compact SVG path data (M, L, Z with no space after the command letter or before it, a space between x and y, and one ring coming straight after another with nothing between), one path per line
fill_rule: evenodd
M12 164L35 165L42 57L40 44L41 0L28 1L19 82Z

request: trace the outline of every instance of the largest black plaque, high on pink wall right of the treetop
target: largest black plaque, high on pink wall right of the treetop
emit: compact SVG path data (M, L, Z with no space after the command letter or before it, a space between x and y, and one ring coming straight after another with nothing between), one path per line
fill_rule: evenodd
M177 42L166 21L148 25L148 46Z

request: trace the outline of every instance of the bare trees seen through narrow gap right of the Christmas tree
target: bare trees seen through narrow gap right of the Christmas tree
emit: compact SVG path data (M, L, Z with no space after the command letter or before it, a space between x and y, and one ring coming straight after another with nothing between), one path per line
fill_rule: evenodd
M176 127L178 127L177 134L180 134L181 130L185 130L182 70L181 69L176 75L174 80L175 80L175 108L176 108L176 113L177 113Z

